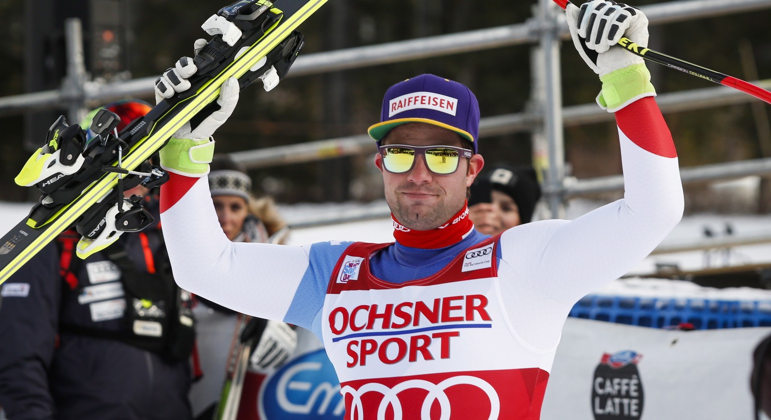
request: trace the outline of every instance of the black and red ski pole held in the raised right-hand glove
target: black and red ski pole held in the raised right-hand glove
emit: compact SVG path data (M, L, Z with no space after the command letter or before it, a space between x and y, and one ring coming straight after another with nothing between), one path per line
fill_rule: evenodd
M570 3L569 0L554 0L554 2L557 3L557 5L559 5L561 8L567 8L567 3ZM740 78L724 75L720 72L710 70L709 68L686 62L680 58L672 57L672 55L666 55L662 52L654 51L651 48L646 48L642 45L635 44L635 42L632 42L631 39L626 37L622 37L618 41L618 45L620 45L622 48L626 48L627 51L635 55L639 55L640 57L645 58L648 61L665 65L669 68L674 68L675 70L679 70L699 78L705 78L719 85L735 88L771 104L771 92L756 85L752 85L752 83L745 82Z

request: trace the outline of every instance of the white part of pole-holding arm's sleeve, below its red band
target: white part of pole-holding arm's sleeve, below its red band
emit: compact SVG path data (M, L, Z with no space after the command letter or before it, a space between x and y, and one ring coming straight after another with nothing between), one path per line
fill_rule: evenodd
M503 259L566 305L628 272L682 215L677 158L652 155L628 138L621 139L621 150L625 198L571 222L523 225L501 236Z

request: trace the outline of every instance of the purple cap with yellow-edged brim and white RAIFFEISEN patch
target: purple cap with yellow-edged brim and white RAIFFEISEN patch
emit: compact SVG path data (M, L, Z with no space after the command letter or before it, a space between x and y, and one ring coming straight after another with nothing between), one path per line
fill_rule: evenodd
M397 125L425 122L447 128L466 138L477 152L480 105L476 96L458 82L435 75L419 75L385 91L380 122L367 132L378 143Z

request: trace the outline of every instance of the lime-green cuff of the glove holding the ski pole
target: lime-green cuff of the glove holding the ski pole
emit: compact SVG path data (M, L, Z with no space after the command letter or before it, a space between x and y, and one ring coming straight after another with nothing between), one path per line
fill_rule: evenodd
M619 68L600 77L602 92L597 103L608 112L616 112L626 105L645 96L655 96L656 90L651 85L651 72L645 63Z

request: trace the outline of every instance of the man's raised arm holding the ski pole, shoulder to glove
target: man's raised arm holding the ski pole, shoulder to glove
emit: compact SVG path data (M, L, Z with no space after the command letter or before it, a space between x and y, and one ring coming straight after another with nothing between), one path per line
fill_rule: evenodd
M551 221L547 234L525 225L502 238L504 260L530 285L569 309L577 299L624 275L682 218L682 183L672 135L653 96L643 59L614 47L621 36L647 45L648 19L608 2L567 5L574 45L602 82L598 103L614 112L625 197L572 222ZM599 163L599 162L598 162ZM536 258L538 264L527 264Z

